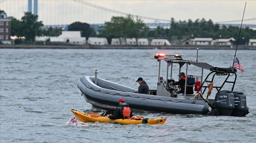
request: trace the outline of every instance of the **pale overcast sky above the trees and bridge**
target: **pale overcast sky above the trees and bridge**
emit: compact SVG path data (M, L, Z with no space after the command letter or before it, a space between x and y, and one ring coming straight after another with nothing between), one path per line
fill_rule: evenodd
M44 25L71 24L75 21L89 24L110 21L112 16L124 16L77 2L79 0L38 0L38 20ZM156 19L176 21L211 19L213 22L256 18L256 0L84 0L100 7ZM1 0L0 9L21 19L28 11L28 0ZM81 1L80 1L81 2ZM82 1L83 2L83 1ZM144 20L144 22L152 22ZM246 21L243 21L243 23ZM256 21L247 21L256 24ZM240 23L240 22L238 22Z

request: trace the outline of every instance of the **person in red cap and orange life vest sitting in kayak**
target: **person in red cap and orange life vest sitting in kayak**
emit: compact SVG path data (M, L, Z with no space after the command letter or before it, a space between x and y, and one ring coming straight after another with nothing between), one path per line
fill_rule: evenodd
M129 104L125 103L123 98L118 100L119 107L117 107L114 111L113 115L107 115L110 119L124 119L128 117L132 117L132 109L129 107Z

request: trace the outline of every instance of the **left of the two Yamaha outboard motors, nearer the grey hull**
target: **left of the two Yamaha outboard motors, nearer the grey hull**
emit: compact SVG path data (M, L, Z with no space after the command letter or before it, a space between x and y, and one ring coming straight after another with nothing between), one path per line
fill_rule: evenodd
M216 94L214 104L219 111L218 115L231 116L235 108L234 94L228 90L221 90Z

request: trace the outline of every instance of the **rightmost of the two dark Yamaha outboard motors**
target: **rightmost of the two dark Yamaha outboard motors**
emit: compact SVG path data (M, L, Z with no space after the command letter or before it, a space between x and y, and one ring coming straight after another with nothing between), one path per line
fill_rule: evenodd
M232 112L232 116L242 117L246 112L246 96L243 92L233 91L235 108Z

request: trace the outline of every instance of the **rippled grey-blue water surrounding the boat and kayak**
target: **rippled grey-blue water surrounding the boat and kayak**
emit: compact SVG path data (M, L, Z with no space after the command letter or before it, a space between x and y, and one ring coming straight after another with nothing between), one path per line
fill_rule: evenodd
M150 57L157 52L183 54L184 59L196 60L196 50L0 49L1 143L256 142L255 50L237 51L245 72L237 72L235 89L246 95L251 109L246 117L137 113L148 118L168 118L164 125L66 125L74 117L71 109L104 111L92 109L81 96L77 88L81 76L93 75L98 69L98 77L102 79L138 88L135 81L143 77L150 89L156 89L158 63ZM217 67L229 67L234 52L199 50L198 59ZM193 70L190 71L193 74L201 72ZM206 74L208 71L204 70Z

